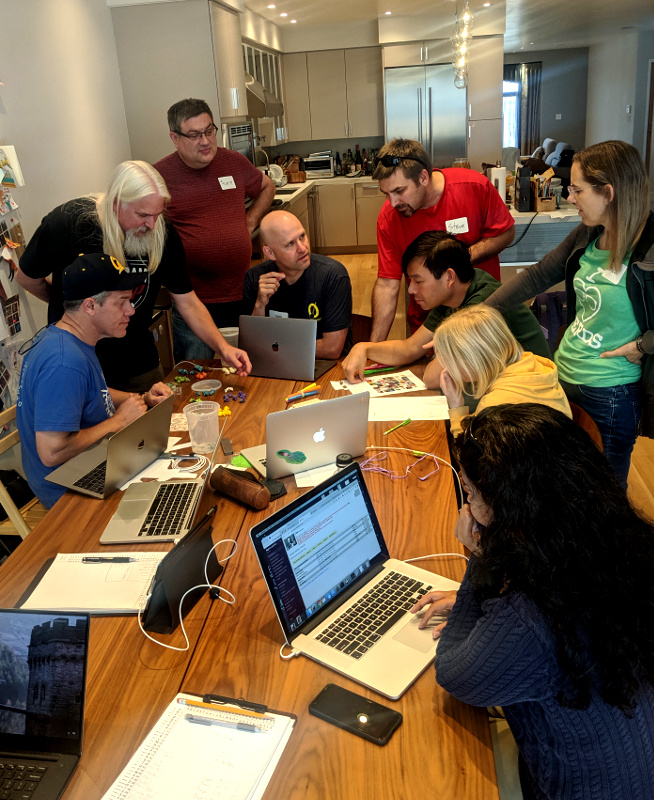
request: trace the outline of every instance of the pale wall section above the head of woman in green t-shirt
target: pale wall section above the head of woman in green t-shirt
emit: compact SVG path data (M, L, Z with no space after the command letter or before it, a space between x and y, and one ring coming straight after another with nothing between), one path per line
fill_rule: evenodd
M626 32L588 48L586 145L607 139L633 144L637 44L638 34Z

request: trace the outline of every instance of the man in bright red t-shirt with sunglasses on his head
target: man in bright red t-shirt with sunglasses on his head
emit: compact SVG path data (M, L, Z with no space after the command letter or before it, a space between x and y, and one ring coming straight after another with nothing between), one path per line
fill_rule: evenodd
M377 218L379 266L370 340L388 336L397 310L402 254L425 231L447 231L468 245L472 263L500 280L498 253L511 244L513 217L488 178L470 169L434 170L420 142L393 139L379 151L373 178L387 196ZM409 300L411 333L424 312Z

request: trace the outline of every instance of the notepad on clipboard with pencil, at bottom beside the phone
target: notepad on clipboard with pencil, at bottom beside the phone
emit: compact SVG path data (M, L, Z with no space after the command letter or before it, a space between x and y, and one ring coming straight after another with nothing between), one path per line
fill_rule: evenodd
M259 800L293 730L295 717L279 712L259 716L236 706L206 708L200 698L179 694L103 800ZM196 724L187 717L208 720ZM260 729L249 728L255 720ZM243 720L247 728L212 721Z

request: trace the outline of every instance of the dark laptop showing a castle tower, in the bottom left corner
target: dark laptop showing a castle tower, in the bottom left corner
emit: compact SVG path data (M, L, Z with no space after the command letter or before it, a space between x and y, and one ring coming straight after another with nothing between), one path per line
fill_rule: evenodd
M88 614L0 609L3 797L56 800L77 767L89 621Z

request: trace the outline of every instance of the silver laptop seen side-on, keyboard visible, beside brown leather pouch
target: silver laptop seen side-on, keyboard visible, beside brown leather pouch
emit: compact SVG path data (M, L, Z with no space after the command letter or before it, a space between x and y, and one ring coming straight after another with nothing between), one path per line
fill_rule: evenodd
M200 475L188 480L171 478L130 484L104 529L100 544L176 542L186 535L193 524L224 430L223 422L208 466Z

